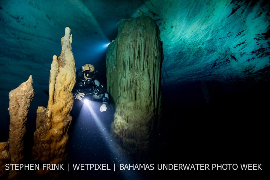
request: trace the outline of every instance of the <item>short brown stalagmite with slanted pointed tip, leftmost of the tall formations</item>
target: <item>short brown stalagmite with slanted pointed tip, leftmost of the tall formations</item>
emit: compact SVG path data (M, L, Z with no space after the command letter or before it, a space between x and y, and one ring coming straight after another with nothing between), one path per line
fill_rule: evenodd
M26 120L30 103L34 97L34 89L32 86L33 79L30 75L26 82L19 87L13 89L9 93L9 138L7 140L9 146L9 154L11 157L10 164L19 164L23 160L24 135L26 133ZM16 179L18 171L10 170L8 179Z

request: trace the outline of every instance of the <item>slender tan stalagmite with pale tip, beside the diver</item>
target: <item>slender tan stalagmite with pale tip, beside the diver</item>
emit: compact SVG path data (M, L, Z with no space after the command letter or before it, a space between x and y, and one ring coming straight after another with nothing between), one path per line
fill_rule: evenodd
M65 28L61 39L62 50L59 57L52 57L49 79L48 107L38 107L36 131L32 156L34 161L48 164L60 164L65 160L68 140L68 128L73 106L71 93L76 81L75 60L71 51L72 35L70 28ZM47 175L54 179L55 171L40 170L38 175ZM52 174L50 174L52 173ZM56 175L57 176L57 175Z

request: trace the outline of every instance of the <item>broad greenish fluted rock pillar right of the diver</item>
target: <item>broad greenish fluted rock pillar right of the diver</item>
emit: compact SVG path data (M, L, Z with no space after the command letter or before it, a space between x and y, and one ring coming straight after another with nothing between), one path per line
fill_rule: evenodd
M106 65L107 90L116 103L111 134L131 158L144 161L160 121L163 54L156 22L139 13L119 23Z

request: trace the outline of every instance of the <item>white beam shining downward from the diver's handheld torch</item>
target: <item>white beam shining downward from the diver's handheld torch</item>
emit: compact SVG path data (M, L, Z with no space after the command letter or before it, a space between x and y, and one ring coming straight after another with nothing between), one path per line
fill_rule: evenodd
M109 147L110 151L113 154L113 158L116 162L118 162L120 164L129 164L127 159L125 158L125 156L122 154L122 152L120 152L120 149L117 148L116 143L114 142L113 138L110 136L110 134L106 131L106 128L104 127L104 125L101 123L100 119L98 118L97 114L95 113L95 111L93 110L93 108L91 107L91 103L93 103L92 101L84 101L84 105L86 105L91 113L91 115L93 116L93 119L95 120L95 122L98 125L99 130L105 135L104 137L106 138L106 143L107 146ZM118 167L119 168L119 167ZM132 170L122 170L122 173L124 173L124 176L126 176L126 178L128 179L140 179L138 174L136 173L136 171L132 171Z

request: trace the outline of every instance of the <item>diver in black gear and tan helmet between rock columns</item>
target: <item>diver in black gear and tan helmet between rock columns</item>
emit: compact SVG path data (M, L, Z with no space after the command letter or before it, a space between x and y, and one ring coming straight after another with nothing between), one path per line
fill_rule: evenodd
M72 90L74 99L82 101L85 98L90 98L90 100L101 99L102 105L100 111L104 112L107 110L106 104L108 104L109 95L106 89L95 76L95 67L92 64L84 64L82 68L76 72L76 84ZM81 75L79 75L81 73Z

